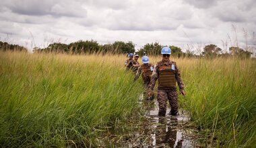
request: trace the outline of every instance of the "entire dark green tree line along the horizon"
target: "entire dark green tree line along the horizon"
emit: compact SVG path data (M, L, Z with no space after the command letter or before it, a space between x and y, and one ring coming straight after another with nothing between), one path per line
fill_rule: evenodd
M161 49L164 47L158 42L147 43L135 52L135 44L133 42L116 41L113 44L98 44L96 40L78 40L77 42L71 42L70 44L63 44L61 42L55 42L49 44L46 48L35 47L34 52L51 52L51 53L66 53L66 54L92 54L92 53L110 53L110 54L129 54L136 53L139 56L150 55L155 56L161 54ZM178 46L169 46L172 49L173 57L251 57L252 52L244 50L243 48L231 46L229 53L224 53L222 48L215 44L208 44L203 48L203 52L199 55L195 55L194 52L187 50L183 52ZM7 42L0 41L0 50L27 50L23 46L17 44L8 44Z

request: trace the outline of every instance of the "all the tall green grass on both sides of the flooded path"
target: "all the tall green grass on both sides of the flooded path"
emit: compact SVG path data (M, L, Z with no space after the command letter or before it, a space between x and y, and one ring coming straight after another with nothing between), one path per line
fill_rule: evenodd
M0 52L0 146L95 147L98 128L140 108L143 90L125 72L124 59ZM256 61L173 60L187 91L179 104L205 136L205 147L256 145Z

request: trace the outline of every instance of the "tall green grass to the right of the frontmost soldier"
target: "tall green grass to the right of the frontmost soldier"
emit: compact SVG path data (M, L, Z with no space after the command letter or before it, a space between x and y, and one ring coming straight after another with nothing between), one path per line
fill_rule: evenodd
M256 145L255 59L183 59L178 62L187 85L187 97L181 97L180 103L205 133L205 145Z

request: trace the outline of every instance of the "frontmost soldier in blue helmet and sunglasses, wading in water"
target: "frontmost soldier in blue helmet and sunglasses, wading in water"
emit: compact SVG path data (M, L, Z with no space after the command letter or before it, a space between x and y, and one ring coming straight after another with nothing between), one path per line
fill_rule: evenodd
M171 50L169 47L162 48L162 61L159 61L154 67L150 85L148 86L148 96L152 96L156 80L158 79L158 95L157 100L159 104L158 116L165 116L166 102L170 104L170 115L179 115L178 110L178 94L176 81L183 96L185 93L185 86L181 79L181 72L174 61L170 61Z

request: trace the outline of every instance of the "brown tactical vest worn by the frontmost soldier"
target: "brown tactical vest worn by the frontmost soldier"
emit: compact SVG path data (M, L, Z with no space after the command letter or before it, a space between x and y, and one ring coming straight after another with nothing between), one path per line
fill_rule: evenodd
M160 87L176 86L175 70L172 70L172 65L159 65L158 83Z

